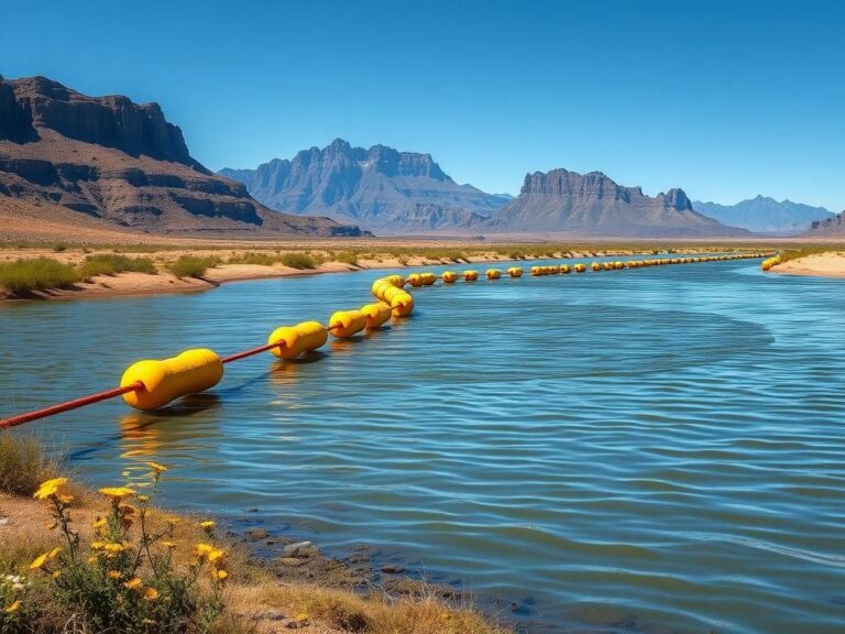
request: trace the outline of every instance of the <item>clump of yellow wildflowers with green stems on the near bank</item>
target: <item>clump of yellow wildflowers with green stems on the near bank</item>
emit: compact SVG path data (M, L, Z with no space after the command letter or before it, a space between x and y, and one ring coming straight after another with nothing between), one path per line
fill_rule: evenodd
M48 527L59 529L63 543L39 555L29 566L30 573L36 575L36 582L52 584L56 600L81 610L94 631L152 632L151 624L156 632L176 631L188 617L210 625L223 610L223 582L229 572L224 568L226 551L212 543L215 523L199 524L205 539L193 553L185 549L182 559L187 564L180 569L175 562L180 553L178 518L153 520L150 509L167 468L156 462L147 466L149 495L140 495L130 487L99 490L109 502L109 512L92 522L94 538L87 547L80 543L78 532L72 529L74 496L68 493L67 478L47 480L34 494L36 500L48 503ZM200 583L206 570L210 582ZM9 589L3 590L7 586ZM21 577L0 578L3 632L3 619L8 621L26 606L26 587Z

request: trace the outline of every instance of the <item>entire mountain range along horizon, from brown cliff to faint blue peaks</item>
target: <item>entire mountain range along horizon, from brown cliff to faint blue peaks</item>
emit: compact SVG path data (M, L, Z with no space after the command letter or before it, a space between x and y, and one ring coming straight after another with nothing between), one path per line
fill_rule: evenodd
M806 227L833 234L843 220L764 197L733 207L693 204L677 188L652 197L601 172L527 174L513 198L457 183L429 154L340 139L215 174L157 103L88 97L45 77L0 77L7 234L17 223L85 234L361 236L361 226L382 234L704 238Z

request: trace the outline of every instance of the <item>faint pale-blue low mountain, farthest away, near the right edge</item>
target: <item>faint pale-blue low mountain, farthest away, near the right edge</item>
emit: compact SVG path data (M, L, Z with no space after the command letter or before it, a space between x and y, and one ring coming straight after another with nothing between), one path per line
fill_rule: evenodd
M757 196L736 205L699 203L692 208L734 227L743 227L758 233L801 233L810 228L813 220L833 218L834 214L824 207L811 207L791 200L778 203L773 198Z

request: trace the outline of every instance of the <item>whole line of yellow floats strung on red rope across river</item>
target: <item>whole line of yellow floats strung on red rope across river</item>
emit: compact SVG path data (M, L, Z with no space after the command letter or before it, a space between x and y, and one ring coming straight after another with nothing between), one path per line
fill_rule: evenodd
M768 271L771 266L781 262L780 255L773 253L750 253L704 258L630 260L627 262L593 262L590 269L600 272L666 264L691 264L758 258L767 258L761 263L764 271ZM584 263L578 263L571 267L567 264L531 266L533 276L566 274L570 271L584 273L588 271L588 266ZM507 274L514 278L520 277L523 269L511 266L507 270ZM414 275L417 275L417 277L414 277ZM474 282L479 278L479 273L478 271L469 270L464 271L460 276L465 282ZM445 284L452 284L458 277L459 274L452 271L445 271L440 275L440 280ZM486 277L487 280L498 280L501 272L497 269L490 269L486 271ZM303 321L296 326L282 326L270 335L267 343L264 346L235 352L228 357L218 357L211 350L199 348L186 350L169 359L138 361L123 373L119 387L95 392L73 401L65 401L50 407L0 419L0 429L70 412L118 396L123 396L123 400L129 405L138 409L160 408L176 398L188 394L197 394L217 385L223 376L223 365L227 363L266 351L271 351L273 356L279 359L293 359L325 346L328 341L329 332L337 338L348 338L365 328L381 327L391 316L405 317L410 315L414 310L414 297L404 287L406 283L414 285L414 280L419 281L419 286L428 286L436 282L437 276L434 273L420 273L410 274L407 280L402 275L382 277L373 282L372 285L372 293L378 298L378 302L365 304L358 310L339 310L329 318L328 327L319 321Z

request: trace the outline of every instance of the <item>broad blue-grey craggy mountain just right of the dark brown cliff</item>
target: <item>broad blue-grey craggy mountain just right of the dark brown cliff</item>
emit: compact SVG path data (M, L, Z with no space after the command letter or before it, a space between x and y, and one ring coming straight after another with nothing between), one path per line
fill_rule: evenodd
M385 145L352 147L341 139L255 170L224 168L267 207L328 216L376 232L481 229L509 198L452 181L429 154Z

